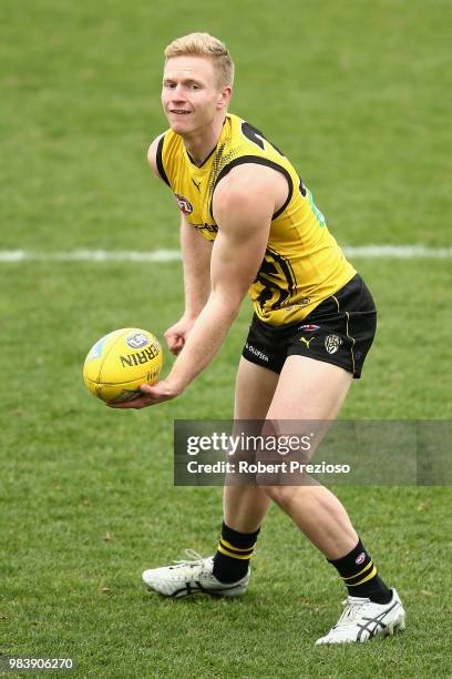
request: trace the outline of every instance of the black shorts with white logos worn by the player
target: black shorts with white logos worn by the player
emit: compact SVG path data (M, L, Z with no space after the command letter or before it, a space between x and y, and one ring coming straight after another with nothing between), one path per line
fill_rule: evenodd
M359 378L376 328L372 295L356 274L297 323L268 325L255 314L242 355L275 373L281 372L287 356L308 356L338 365Z

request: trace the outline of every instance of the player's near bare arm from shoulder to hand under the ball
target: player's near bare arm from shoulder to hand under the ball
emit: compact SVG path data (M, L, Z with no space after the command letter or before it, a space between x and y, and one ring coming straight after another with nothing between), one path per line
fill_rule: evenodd
M167 377L143 384L143 397L114 407L142 408L174 398L210 363L264 260L276 200L275 172L267 168L238 166L218 184L208 301Z

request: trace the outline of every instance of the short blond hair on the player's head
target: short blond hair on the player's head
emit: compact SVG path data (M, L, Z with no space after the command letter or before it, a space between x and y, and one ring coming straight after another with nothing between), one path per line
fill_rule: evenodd
M173 40L165 49L166 60L172 57L208 57L212 59L220 88L233 85L234 62L224 42L208 33L188 33Z

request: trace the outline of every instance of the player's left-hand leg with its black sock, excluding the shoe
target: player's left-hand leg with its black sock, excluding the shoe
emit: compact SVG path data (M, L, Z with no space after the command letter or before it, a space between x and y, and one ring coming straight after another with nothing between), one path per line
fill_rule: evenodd
M238 366L235 420L264 420L275 394L279 375L242 357ZM260 524L270 498L254 485L225 485L224 521L217 551L214 556L214 575L222 582L234 582L248 572Z

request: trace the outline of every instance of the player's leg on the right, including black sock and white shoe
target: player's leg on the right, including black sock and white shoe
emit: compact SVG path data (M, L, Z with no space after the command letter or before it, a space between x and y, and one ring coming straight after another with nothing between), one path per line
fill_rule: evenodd
M268 420L333 420L352 376L343 368L305 356L289 356L268 411ZM284 434L284 432L281 432ZM396 590L377 575L346 509L318 485L266 486L266 493L290 516L342 577L348 608L320 643L366 641L377 634L404 627L404 611Z

